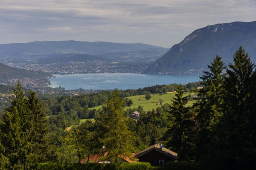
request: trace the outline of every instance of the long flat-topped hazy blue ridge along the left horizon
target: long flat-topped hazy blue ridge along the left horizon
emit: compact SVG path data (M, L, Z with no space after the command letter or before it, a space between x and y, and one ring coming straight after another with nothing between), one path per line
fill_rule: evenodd
M35 41L0 45L0 56L23 57L39 54L90 54L138 51L159 48L142 43L81 42L81 41Z

